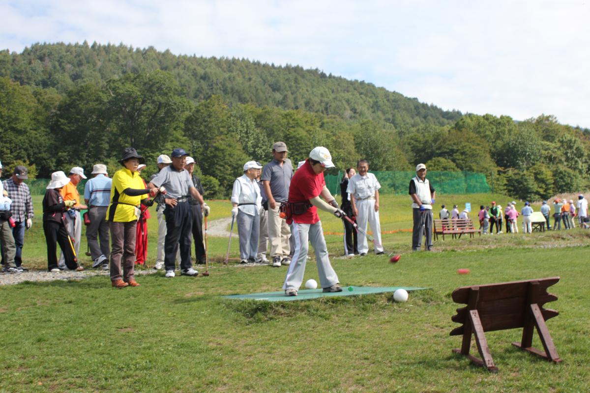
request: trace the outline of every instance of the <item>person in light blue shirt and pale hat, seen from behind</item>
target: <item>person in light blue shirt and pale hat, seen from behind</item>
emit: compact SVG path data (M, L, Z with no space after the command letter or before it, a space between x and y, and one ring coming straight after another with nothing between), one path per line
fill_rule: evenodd
M107 167L96 164L92 168L94 177L84 186L84 202L88 205L90 224L86 227L86 240L90 247L92 267L102 266L109 270L109 222L107 209L110 203L110 189L112 179L109 178ZM99 245L100 240L100 245Z

